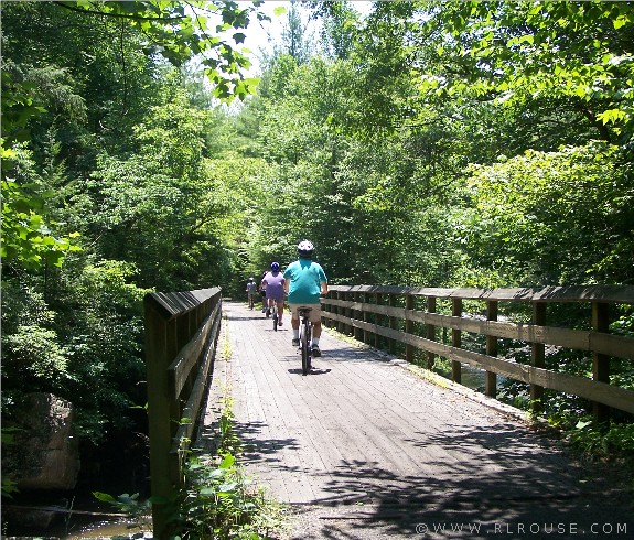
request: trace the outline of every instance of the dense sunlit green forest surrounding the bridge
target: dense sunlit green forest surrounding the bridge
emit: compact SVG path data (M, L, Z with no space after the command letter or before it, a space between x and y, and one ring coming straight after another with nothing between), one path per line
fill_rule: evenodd
M303 238L332 283L634 283L633 2L289 2L256 80L259 3L1 3L3 421L128 449L143 295Z

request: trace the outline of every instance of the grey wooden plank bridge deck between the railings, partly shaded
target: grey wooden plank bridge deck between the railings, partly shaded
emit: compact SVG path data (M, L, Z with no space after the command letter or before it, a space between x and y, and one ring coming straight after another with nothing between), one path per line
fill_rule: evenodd
M426 381L327 328L303 377L288 314L273 332L257 309L225 302L224 312L232 356L216 360L207 423L228 385L241 460L298 508L293 538L634 533L631 500L587 482L556 443L491 400ZM449 532L459 525L462 533Z

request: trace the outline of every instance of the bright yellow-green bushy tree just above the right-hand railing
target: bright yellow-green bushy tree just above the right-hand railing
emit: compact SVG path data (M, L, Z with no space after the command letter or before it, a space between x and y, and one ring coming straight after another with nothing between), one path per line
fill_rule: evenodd
M527 151L472 168L473 204L455 234L499 285L626 283L634 234L632 179L619 149L599 141Z

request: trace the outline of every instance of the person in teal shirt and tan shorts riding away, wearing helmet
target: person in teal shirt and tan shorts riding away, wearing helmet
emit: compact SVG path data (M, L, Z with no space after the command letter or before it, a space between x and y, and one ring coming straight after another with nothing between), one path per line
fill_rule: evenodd
M320 295L327 293L327 279L323 268L312 260L314 246L302 240L298 245L299 260L289 264L284 270L284 289L289 295L291 309L291 326L293 328L292 344L300 344L300 318L298 310L310 307L310 320L313 323L312 355L321 356L319 341L321 336L321 305Z

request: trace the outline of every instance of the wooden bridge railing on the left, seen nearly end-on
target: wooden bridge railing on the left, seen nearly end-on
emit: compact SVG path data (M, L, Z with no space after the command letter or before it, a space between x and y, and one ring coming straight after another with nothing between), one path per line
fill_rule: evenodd
M144 307L153 537L163 539L212 369L221 289L151 293Z

